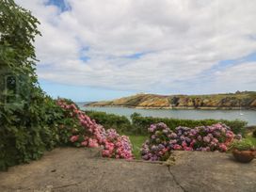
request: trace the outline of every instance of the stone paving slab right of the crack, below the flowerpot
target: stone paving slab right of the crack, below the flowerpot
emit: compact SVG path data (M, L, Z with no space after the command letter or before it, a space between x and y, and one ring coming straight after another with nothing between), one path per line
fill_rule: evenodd
M256 160L236 162L223 152L174 152L169 171L184 191L256 192Z

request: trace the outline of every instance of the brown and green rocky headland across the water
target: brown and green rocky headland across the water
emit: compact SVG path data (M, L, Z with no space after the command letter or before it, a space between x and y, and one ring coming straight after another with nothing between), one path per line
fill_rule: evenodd
M136 94L113 101L88 104L89 106L126 106L136 108L173 109L256 109L256 91L211 95L156 95Z

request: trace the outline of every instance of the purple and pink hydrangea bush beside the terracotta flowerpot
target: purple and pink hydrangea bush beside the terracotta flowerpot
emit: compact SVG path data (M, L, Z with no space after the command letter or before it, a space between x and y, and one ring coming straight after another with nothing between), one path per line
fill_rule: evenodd
M231 128L223 123L196 128L177 127L171 131L163 123L152 124L148 139L141 149L144 160L166 160L171 151L226 152L235 136Z

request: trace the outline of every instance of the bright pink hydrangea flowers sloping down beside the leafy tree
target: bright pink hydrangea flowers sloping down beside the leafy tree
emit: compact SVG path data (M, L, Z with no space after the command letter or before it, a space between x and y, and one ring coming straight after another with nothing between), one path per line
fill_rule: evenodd
M120 136L114 129L105 130L95 120L90 120L75 104L67 104L64 100L58 100L57 104L67 110L70 117L79 120L83 127L82 131L70 138L75 146L101 147L104 157L133 159L132 145L128 136Z

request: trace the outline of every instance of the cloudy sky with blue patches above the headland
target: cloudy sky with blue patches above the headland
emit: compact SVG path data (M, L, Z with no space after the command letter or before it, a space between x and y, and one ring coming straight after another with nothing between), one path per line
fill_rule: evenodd
M15 0L40 86L75 102L256 90L255 0Z

